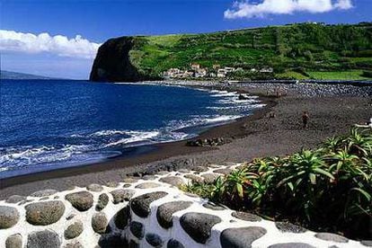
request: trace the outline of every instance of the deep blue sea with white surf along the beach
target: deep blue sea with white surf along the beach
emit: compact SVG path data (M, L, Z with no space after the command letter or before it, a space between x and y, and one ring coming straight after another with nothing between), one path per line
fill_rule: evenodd
M261 106L254 96L186 87L2 80L0 178L133 155Z

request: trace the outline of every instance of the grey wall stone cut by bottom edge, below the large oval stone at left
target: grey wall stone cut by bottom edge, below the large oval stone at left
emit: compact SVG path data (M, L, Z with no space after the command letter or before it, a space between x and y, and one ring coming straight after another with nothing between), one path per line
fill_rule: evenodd
M32 232L27 238L27 248L59 248L61 241L52 230Z

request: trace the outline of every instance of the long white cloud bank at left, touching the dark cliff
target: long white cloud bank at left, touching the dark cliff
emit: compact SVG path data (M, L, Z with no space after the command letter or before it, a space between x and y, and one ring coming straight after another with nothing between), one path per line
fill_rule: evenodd
M17 31L0 30L0 51L23 53L49 52L60 57L94 58L101 44L85 40L80 35L73 39L66 36L39 35Z

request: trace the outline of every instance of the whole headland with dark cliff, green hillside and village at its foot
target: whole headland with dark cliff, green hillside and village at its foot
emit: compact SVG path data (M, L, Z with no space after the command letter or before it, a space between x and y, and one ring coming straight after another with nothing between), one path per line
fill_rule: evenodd
M107 40L90 80L372 78L372 22L306 22Z

